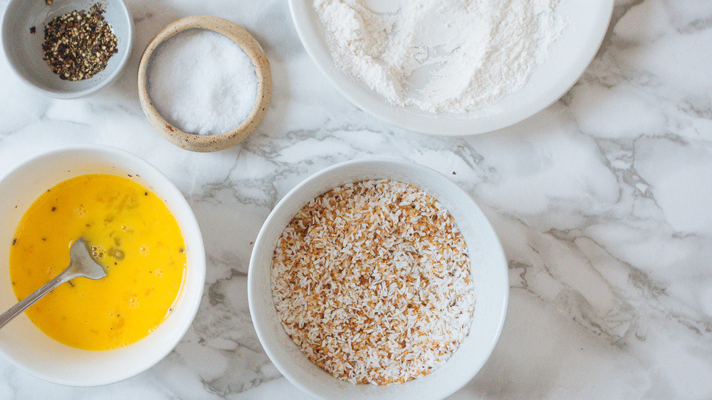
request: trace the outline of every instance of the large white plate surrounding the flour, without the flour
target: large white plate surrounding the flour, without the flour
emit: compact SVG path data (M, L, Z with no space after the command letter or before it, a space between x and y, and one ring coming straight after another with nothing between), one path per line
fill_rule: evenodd
M431 114L417 107L388 104L379 94L335 67L313 0L289 0L295 28L304 48L341 94L360 109L409 131L443 136L482 134L531 117L555 102L575 84L606 33L614 0L561 0L556 12L565 18L562 36L550 56L538 65L525 87L491 107L466 114Z

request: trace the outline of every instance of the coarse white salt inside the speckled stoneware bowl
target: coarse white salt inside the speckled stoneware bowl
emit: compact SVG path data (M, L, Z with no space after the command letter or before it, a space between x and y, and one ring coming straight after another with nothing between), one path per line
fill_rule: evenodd
M239 45L206 29L189 29L154 51L147 70L151 102L190 134L231 131L252 111L257 74Z

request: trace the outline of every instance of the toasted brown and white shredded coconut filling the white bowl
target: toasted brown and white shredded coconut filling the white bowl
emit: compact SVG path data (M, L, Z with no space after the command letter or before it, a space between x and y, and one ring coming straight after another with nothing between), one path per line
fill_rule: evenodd
M392 180L311 200L284 229L271 269L286 333L354 384L406 382L444 364L469 330L470 276L447 210Z

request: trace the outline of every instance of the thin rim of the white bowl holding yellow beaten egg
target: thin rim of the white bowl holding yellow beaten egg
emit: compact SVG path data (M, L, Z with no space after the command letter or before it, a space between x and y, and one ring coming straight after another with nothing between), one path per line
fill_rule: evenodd
M196 243L192 244L192 249L191 252L194 253L194 259L199 261L196 265L192 266L192 271L194 271L194 276L195 279L194 283L195 286L197 286L197 291L194 291L195 293L195 298L196 300L193 301L192 303L185 303L185 306L187 308L184 311L184 318L188 321L188 323L185 323L184 326L180 327L180 332L177 335L174 335L174 340L170 342L166 342L166 346L163 348L162 351L157 352L157 354L152 357L150 362L145 362L142 364L141 367L138 367L137 369L133 369L130 371L127 371L123 374L116 375L114 377L110 378L105 378L105 379L91 379L90 377L85 377L83 379L76 379L76 380L68 380L68 379L63 379L60 377L55 377L51 374L46 374L44 372L38 371L34 369L33 367L25 364L21 360L17 360L15 357L11 356L8 352L4 350L4 347L0 346L0 355L3 355L6 360L9 360L11 364L13 364L15 367L18 369L21 369L24 372L27 372L28 374L33 375L34 377L38 377L39 379L43 379L46 382L51 382L55 384L62 384L65 386L70 386L70 387L98 387L98 386L103 386L107 384L113 384L116 382L121 382L126 379L135 377L138 374L141 374L142 372L147 371L148 369L154 367L156 364L161 362L167 355L169 355L175 347L181 342L183 337L187 334L188 330L192 326L192 322L195 319L195 316L197 315L197 312L199 310L199 306L201 303L202 299L202 294L204 291L204 282L205 282L205 276L206 276L206 257L205 257L205 247L204 247L204 242L202 239L202 234L200 231L199 224L197 222L197 219L195 218L194 212L192 211L192 207L190 207L189 203L187 202L186 198L184 195L180 192L180 190L177 188L177 186L172 183L169 178L162 173L158 168L153 166L151 163L148 161L144 160L143 158L140 158L139 156L135 155L134 153L131 153L130 151L123 150L121 148L113 147L113 146L107 146L103 144L75 144L75 145L69 145L69 146L61 146L58 148L54 148L50 151L43 151L41 153L36 153L34 156L30 156L26 158L23 161L20 161L17 163L14 167L9 168L9 171L4 173L3 175L0 176L0 182L3 182L7 178L11 177L14 173L17 171L21 170L22 168L28 166L31 163L36 163L39 160L46 158L46 157L51 157L51 156L56 156L61 153L71 153L75 151L90 151L95 154L109 154L112 156L118 156L120 158L124 158L127 160L127 163L130 163L135 166L140 166L140 168L143 168L147 171L150 171L151 173L155 174L155 176L158 178L158 180L163 180L165 185L166 185L166 190L169 192L172 192L175 196L174 198L176 199L174 202L179 203L180 207L184 207L185 210L188 212L186 213L184 217L184 222L188 225L189 230L192 232L194 231L194 237L199 238L199 240L196 241ZM184 234L185 236L185 234ZM198 282L199 281L199 284ZM184 281L183 287L181 289L181 293L186 289L186 286L188 285L187 281ZM179 295L182 296L182 295ZM165 322L165 321L164 321ZM150 336L150 335L149 335ZM147 337L149 337L147 336ZM143 339L139 340L136 343L141 342L142 340L145 340L146 337ZM131 346L131 345L130 345ZM129 347L130 347L129 346ZM78 351L81 352L90 352L90 350L80 350L77 349ZM120 350L120 349L117 349ZM108 350L108 351L115 351L115 350Z

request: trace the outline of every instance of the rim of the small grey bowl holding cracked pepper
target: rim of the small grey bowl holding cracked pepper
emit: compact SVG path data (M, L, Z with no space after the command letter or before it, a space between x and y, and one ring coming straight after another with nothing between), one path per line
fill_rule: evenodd
M126 38L122 38L122 40L125 40L127 45L126 45L126 53L123 55L123 57L119 60L119 64L116 66L115 70L112 70L112 72L105 77L104 80L100 80L96 83L96 85L93 85L92 87L88 87L85 90L79 90L79 91L62 91L62 90L49 90L46 87L41 87L38 85L35 85L28 77L26 77L23 72L18 68L18 60L16 60L14 57L8 56L8 46L9 46L9 37L13 35L13 33L9 32L9 28L6 28L7 23L6 19L9 18L8 11L11 9L11 7L16 4L16 3L21 3L25 0L10 0L5 7L5 10L3 11L3 16L2 20L0 21L0 43L3 48L3 52L6 55L6 60L8 64L10 65L10 70L14 73L16 77L19 78L22 82L24 82L26 85L29 87L32 87L34 90L37 90L38 92L41 92L42 94L45 94L48 97L53 97L55 99L79 99L81 97L87 97L90 94L94 94L101 90L103 87L108 86L110 83L114 82L119 75L121 75L121 72L123 71L124 67L128 63L128 60L131 58L131 51L133 49L133 38L134 38L134 31L135 31L135 26L134 26L134 21L133 17L131 16L131 11L128 9L126 6L126 3L124 0L110 0L114 1L121 9L121 15L123 18L125 18L128 21L127 24L127 33L126 33Z

